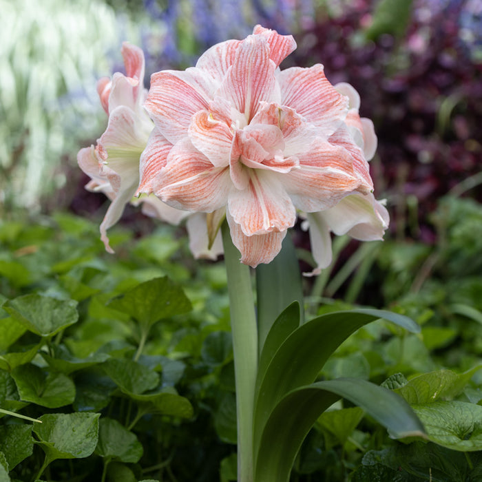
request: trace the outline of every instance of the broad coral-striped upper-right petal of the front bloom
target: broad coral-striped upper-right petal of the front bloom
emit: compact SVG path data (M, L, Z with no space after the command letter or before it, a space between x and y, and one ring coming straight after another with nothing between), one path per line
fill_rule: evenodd
M342 124L348 112L348 98L328 81L323 65L291 67L277 72L281 103L319 127L319 136L328 138Z

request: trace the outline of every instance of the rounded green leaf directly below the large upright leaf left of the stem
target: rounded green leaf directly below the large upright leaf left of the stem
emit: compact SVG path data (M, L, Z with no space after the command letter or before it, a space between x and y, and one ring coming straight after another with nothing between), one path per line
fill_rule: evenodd
M158 373L134 360L112 358L102 368L122 392L128 395L140 395L147 390L154 390L159 384Z

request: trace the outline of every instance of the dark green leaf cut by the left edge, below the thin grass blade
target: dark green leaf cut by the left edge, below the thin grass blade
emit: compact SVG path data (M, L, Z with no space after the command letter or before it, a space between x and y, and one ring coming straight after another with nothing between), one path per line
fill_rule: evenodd
M0 450L8 462L8 470L13 470L23 459L32 455L32 426L25 423L0 426Z

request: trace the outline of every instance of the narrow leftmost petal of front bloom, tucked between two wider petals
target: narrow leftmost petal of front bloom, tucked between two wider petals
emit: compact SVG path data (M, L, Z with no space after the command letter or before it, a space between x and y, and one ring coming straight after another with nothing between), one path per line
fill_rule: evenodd
M139 175L140 182L136 195L151 193L154 190L154 180L160 169L167 163L167 156L172 149L172 144L156 128L153 129L147 146L140 156Z

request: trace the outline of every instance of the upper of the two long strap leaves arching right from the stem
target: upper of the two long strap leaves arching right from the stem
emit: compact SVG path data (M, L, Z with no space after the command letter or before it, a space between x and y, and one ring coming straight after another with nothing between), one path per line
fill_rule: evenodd
M302 324L276 351L269 366L260 373L255 395L254 450L266 420L278 401L288 392L311 384L332 353L358 328L384 318L408 331L419 326L410 318L370 309L328 313Z

